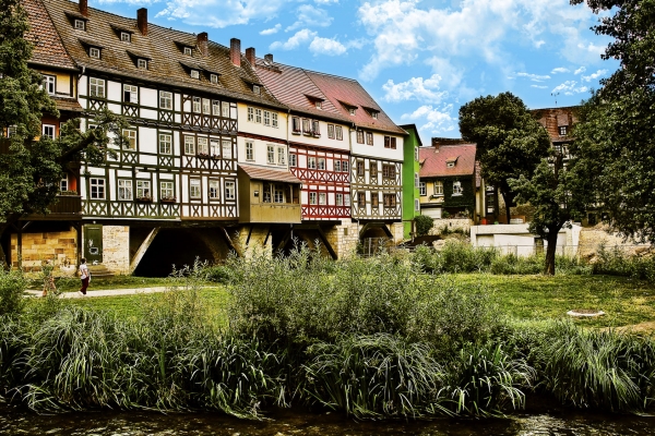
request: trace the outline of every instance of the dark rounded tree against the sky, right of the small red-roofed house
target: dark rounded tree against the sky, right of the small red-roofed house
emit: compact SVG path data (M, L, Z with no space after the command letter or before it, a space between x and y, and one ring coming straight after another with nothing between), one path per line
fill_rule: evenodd
M464 140L476 143L481 175L502 194L509 220L516 195L509 180L532 177L548 156L548 133L511 93L478 97L462 106L460 132Z

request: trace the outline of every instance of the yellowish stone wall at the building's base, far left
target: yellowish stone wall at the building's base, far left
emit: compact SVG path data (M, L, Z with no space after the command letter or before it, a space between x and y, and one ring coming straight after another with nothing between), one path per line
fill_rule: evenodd
M19 266L17 234L11 235L11 264ZM78 233L63 232L23 233L23 269L39 271L41 263L53 261L55 266L78 264Z

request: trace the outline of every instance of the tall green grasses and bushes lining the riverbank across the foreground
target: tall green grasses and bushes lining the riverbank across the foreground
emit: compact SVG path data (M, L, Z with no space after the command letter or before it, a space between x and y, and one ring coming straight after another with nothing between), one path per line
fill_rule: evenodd
M514 317L487 280L510 276L426 274L418 254L332 262L306 249L224 268L225 288L203 289L211 271L195 265L169 279L169 292L133 295L139 316L53 296L2 305L3 397L37 411L242 417L274 405L495 416L531 392L579 408L652 408L650 337ZM15 288L4 286L10 276L2 298ZM527 288L539 277L522 279Z

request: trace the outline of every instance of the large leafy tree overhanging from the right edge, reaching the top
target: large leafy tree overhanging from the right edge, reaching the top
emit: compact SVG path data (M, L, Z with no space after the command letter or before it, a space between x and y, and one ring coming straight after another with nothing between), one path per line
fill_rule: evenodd
M571 3L582 3L572 0ZM655 242L655 0L588 0L596 34L614 38L603 59L620 68L583 106L571 152L595 180L596 206L615 230Z

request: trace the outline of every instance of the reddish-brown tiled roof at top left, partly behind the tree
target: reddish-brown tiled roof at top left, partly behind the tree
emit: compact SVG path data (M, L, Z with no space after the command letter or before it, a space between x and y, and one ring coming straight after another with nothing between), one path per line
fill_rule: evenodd
M34 45L32 62L76 70L41 1L22 0L22 4L29 20L29 31L25 34L25 39Z

